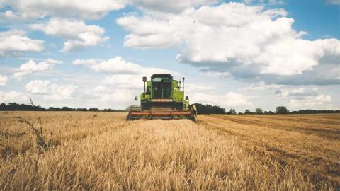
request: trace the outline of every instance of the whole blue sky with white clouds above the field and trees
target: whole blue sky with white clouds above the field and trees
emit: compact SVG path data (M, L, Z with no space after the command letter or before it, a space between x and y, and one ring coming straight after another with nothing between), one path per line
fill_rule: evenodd
M142 76L191 103L340 109L339 0L0 0L0 103L125 109Z

